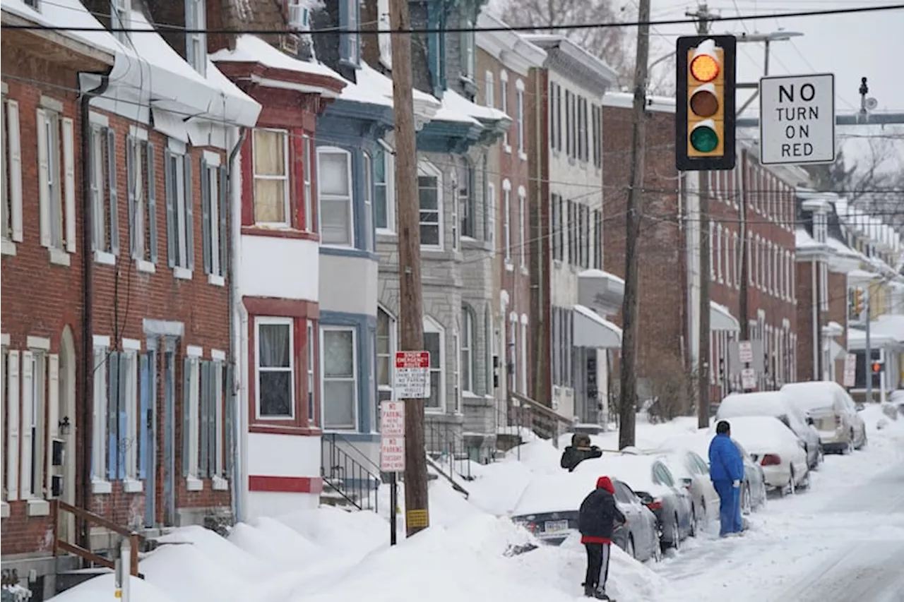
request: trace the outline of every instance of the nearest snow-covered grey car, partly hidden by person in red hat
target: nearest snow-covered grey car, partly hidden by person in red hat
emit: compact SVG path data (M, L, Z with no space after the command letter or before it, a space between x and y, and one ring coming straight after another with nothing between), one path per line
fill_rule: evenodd
M524 489L515 504L512 520L523 525L545 543L560 545L578 532L580 503L596 486L596 476L588 474L541 475ZM627 519L612 534L612 541L636 560L662 558L659 526L654 513L629 486L612 479L616 505Z

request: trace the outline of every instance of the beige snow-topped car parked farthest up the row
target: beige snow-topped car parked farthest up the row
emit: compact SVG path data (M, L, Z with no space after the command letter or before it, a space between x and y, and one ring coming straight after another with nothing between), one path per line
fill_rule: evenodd
M866 445L866 423L857 405L834 381L791 382L782 387L788 399L811 420L823 451L850 454Z

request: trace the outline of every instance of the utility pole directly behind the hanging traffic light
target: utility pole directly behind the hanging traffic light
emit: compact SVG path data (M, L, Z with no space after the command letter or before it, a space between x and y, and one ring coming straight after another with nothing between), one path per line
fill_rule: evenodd
M697 33L710 33L710 22L716 14L707 5L694 13ZM697 193L700 199L700 345L697 353L697 426L710 426L710 172L697 172Z

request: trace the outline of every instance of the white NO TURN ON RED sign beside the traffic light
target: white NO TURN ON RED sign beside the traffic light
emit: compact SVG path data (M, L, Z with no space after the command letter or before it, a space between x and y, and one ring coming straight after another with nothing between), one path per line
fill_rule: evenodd
M759 162L809 165L835 160L835 76L759 80Z

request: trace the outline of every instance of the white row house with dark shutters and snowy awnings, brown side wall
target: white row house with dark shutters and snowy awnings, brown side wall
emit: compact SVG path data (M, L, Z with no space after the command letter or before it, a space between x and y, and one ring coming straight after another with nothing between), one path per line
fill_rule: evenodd
M560 35L527 35L546 52L526 82L540 103L519 141L532 174L532 393L566 419L599 423L610 351L621 330L606 319L621 306L624 281L604 272L602 101L616 73Z

